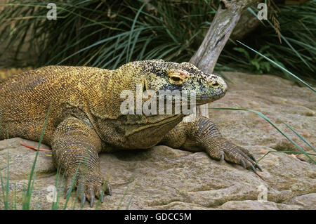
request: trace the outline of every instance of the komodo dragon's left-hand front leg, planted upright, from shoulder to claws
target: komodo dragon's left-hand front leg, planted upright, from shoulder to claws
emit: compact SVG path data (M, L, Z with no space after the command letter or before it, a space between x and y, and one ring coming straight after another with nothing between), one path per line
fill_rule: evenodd
M56 167L65 171L67 194L74 179L81 205L85 199L93 206L94 197L103 202L103 185L105 179L100 172L98 153L102 142L96 131L84 121L69 117L62 121L54 132L52 141L53 160ZM110 187L105 186L105 192L110 194Z

